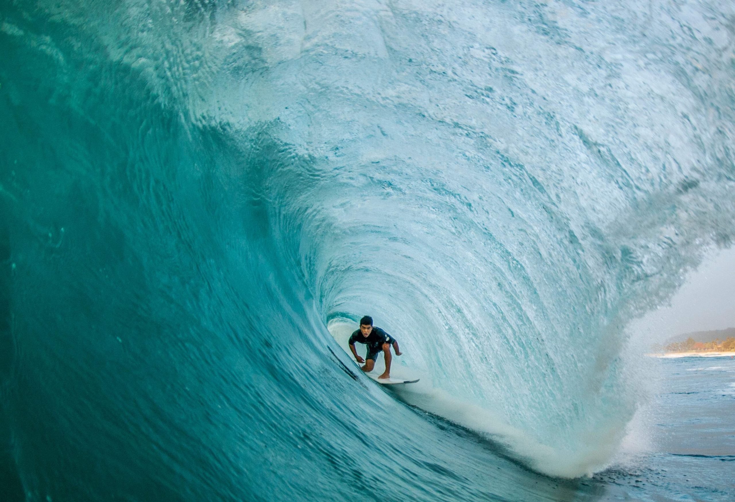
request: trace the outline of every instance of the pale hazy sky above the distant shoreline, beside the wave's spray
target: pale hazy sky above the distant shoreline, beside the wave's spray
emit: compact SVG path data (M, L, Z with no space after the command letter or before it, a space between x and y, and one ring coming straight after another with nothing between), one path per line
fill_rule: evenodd
M631 323L634 338L661 342L689 331L735 328L735 248L705 259L671 298L671 305Z

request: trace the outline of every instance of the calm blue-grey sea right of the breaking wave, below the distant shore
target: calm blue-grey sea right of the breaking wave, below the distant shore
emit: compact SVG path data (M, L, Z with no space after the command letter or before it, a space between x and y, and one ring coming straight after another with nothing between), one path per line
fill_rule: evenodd
M623 455L592 480L603 500L730 501L735 497L735 359L657 359L656 391Z

